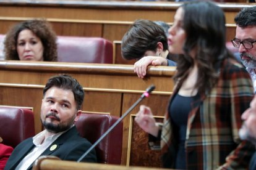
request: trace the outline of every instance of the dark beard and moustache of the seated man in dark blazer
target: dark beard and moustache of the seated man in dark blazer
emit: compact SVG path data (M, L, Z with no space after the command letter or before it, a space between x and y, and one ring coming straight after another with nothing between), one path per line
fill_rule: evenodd
M59 117L53 112L48 113L46 115L46 118L48 118L48 116L54 116L56 120L60 121ZM58 133L58 132L66 131L67 129L69 129L72 126L72 124L74 124L74 119L75 119L75 115L74 117L70 118L69 122L67 122L66 124L61 124L61 123L54 124L52 122L46 122L46 119L45 121L42 121L41 119L41 123L43 124L43 126L47 131L52 133Z

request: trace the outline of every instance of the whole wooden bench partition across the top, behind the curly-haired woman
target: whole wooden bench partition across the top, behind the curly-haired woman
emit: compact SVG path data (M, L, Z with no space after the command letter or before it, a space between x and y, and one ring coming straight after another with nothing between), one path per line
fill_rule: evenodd
M14 23L46 18L58 36L101 37L120 42L130 24L139 18L162 20L172 25L174 13L180 5L177 2L0 0L0 34L6 34ZM218 3L226 15L226 41L233 39L236 33L234 16L242 7L252 5ZM124 63L119 44L113 52L113 63Z

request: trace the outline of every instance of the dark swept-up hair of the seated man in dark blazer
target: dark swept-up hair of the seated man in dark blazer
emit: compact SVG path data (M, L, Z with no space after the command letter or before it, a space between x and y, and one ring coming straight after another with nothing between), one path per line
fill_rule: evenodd
M79 84L77 79L72 78L69 75L57 75L48 79L48 82L43 89L43 96L45 97L46 91L51 87L58 87L64 90L70 90L74 94L75 102L77 104L77 110L80 110L83 103L83 87Z

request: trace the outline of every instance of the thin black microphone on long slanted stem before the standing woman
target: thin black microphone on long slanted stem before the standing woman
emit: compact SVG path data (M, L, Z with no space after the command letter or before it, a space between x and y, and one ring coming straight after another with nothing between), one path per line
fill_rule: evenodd
M93 148L95 148L96 145L98 145L101 142L101 140L104 139L104 137L106 137L109 134L109 132L111 132L114 129L114 127L116 127L116 125L120 123L122 119L124 119L130 113L130 111L134 109L135 106L138 105L139 102L142 101L142 99L144 99L145 97L149 97L149 94L154 89L155 89L155 86L153 84L150 87L148 87L146 91L143 92L143 94L140 96L140 98L126 111L126 113L124 113L124 115L122 115L119 119L117 119L117 121L111 127L109 127L109 129L98 140L96 140L96 142L90 148L88 148L88 150L85 153L83 153L82 156L80 156L77 162L79 163L80 161L82 161L83 158L85 158L85 156L87 156L88 153L90 153L93 150Z

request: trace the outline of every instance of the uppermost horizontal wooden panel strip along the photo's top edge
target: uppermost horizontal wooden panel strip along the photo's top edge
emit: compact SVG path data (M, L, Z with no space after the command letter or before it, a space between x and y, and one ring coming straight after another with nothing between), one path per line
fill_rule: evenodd
M149 20L160 20L161 18L164 22L173 22L174 13L182 3L0 0L0 4L1 17L44 17L130 22L139 18ZM254 4L217 3L217 5L224 10L227 23L234 23L234 15L242 7L253 6Z

